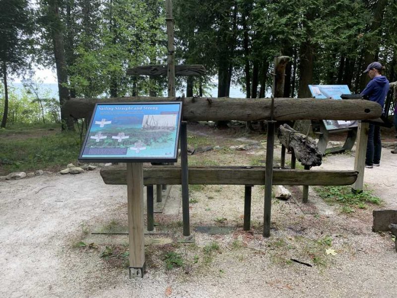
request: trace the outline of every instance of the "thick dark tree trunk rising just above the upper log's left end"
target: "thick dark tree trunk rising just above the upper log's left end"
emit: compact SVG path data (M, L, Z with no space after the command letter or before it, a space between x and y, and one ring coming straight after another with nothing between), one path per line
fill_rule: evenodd
M48 2L49 13L53 15L56 23L52 26L52 38L54 46L55 64L57 67L58 77L58 91L59 91L59 102L61 105L61 121L62 130L74 130L73 120L69 115L64 113L63 104L69 97L69 90L65 86L67 84L67 71L66 71L66 59L65 59L65 46L64 37L61 29L61 19L59 15L59 3L58 0L50 0Z

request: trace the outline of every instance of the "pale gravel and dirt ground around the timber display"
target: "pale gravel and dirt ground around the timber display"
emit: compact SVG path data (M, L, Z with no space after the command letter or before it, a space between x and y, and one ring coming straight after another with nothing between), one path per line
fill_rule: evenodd
M243 132L238 126L221 131L191 125L189 142L200 139L221 149L190 160L219 165L263 161L264 143L248 151L228 149L246 144L240 137L265 141L263 135ZM388 133L387 141L393 142L394 132ZM275 156L279 152L277 146ZM353 148L329 155L319 168L353 169L354 154ZM374 233L371 226L372 210L397 208L396 167L397 154L384 149L381 166L364 175L382 206L351 214L326 204L312 187L305 205L299 187L290 188L292 199L272 200L269 238L262 236L263 187L253 187L252 229L245 232L244 186L206 185L190 189L195 243L177 243L182 236L181 190L172 186L162 213L155 214L158 234L145 235L147 273L142 279L129 279L122 257L127 235L91 233L127 225L126 186L105 185L98 170L0 181L0 297L394 298L395 244L389 233ZM194 231L203 225L234 230L216 235ZM112 250L108 255L107 246ZM336 254L327 254L330 249ZM183 266L167 270L167 252L178 253Z

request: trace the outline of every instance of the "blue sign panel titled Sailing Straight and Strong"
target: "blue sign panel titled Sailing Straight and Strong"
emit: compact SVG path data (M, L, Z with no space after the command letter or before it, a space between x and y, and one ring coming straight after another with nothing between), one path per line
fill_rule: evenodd
M182 102L97 103L80 151L90 162L176 162Z

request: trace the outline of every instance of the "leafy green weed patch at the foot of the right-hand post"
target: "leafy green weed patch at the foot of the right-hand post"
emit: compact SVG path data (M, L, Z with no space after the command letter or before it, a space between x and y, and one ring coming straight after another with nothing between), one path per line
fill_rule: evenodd
M371 190L365 189L362 193L354 194L350 186L322 186L314 190L325 202L332 205L341 205L341 212L352 213L355 209L366 209L367 204L380 205L381 199L374 196Z

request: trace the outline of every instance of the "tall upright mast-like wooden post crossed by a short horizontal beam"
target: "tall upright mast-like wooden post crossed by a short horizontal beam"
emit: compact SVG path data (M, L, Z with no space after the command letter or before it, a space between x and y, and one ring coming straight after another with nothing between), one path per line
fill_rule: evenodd
M168 97L175 96L175 48L174 48L174 18L172 16L172 0L166 3L167 22L167 40L168 40L168 57L167 57L167 77L168 77Z

